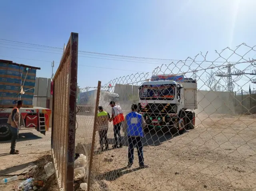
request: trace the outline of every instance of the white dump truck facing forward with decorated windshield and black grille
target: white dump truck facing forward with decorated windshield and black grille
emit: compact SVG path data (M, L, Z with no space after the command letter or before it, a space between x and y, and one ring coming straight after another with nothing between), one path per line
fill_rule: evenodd
M194 129L197 83L184 75L152 76L139 88L139 110L145 130L183 131Z

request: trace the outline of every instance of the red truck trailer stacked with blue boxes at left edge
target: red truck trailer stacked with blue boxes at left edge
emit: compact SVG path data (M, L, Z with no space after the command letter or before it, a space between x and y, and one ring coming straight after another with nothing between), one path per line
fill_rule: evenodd
M18 100L23 101L21 127L34 128L44 135L48 131L51 109L33 106L36 70L40 68L0 60L0 141L11 138L7 121Z

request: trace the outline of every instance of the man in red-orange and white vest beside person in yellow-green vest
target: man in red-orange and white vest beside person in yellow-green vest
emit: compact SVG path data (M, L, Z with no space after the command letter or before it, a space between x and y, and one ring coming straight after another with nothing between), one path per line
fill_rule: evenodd
M110 101L110 106L112 107L112 116L109 121L110 122L113 121L114 138L115 138L115 144L113 145L113 148L118 147L118 139L120 142L119 147L121 148L123 144L122 144L120 129L121 129L122 121L124 121L124 114L120 105L116 105L115 101ZM117 139L117 136L118 136L118 139Z

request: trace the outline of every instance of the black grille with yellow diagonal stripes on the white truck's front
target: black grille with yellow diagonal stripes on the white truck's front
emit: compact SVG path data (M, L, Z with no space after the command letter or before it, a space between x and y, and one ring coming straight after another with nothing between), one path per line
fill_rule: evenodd
M148 103L144 108L139 104L139 108L146 113L177 113L177 105L170 103Z

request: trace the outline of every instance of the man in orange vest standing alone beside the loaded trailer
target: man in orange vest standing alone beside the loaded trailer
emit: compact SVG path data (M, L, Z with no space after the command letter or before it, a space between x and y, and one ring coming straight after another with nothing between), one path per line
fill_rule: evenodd
M12 109L12 113L8 117L7 123L11 125L10 131L12 133L11 151L10 155L19 154L19 151L15 149L17 140L19 138L20 129L20 107L22 107L23 101L19 100L17 106Z

